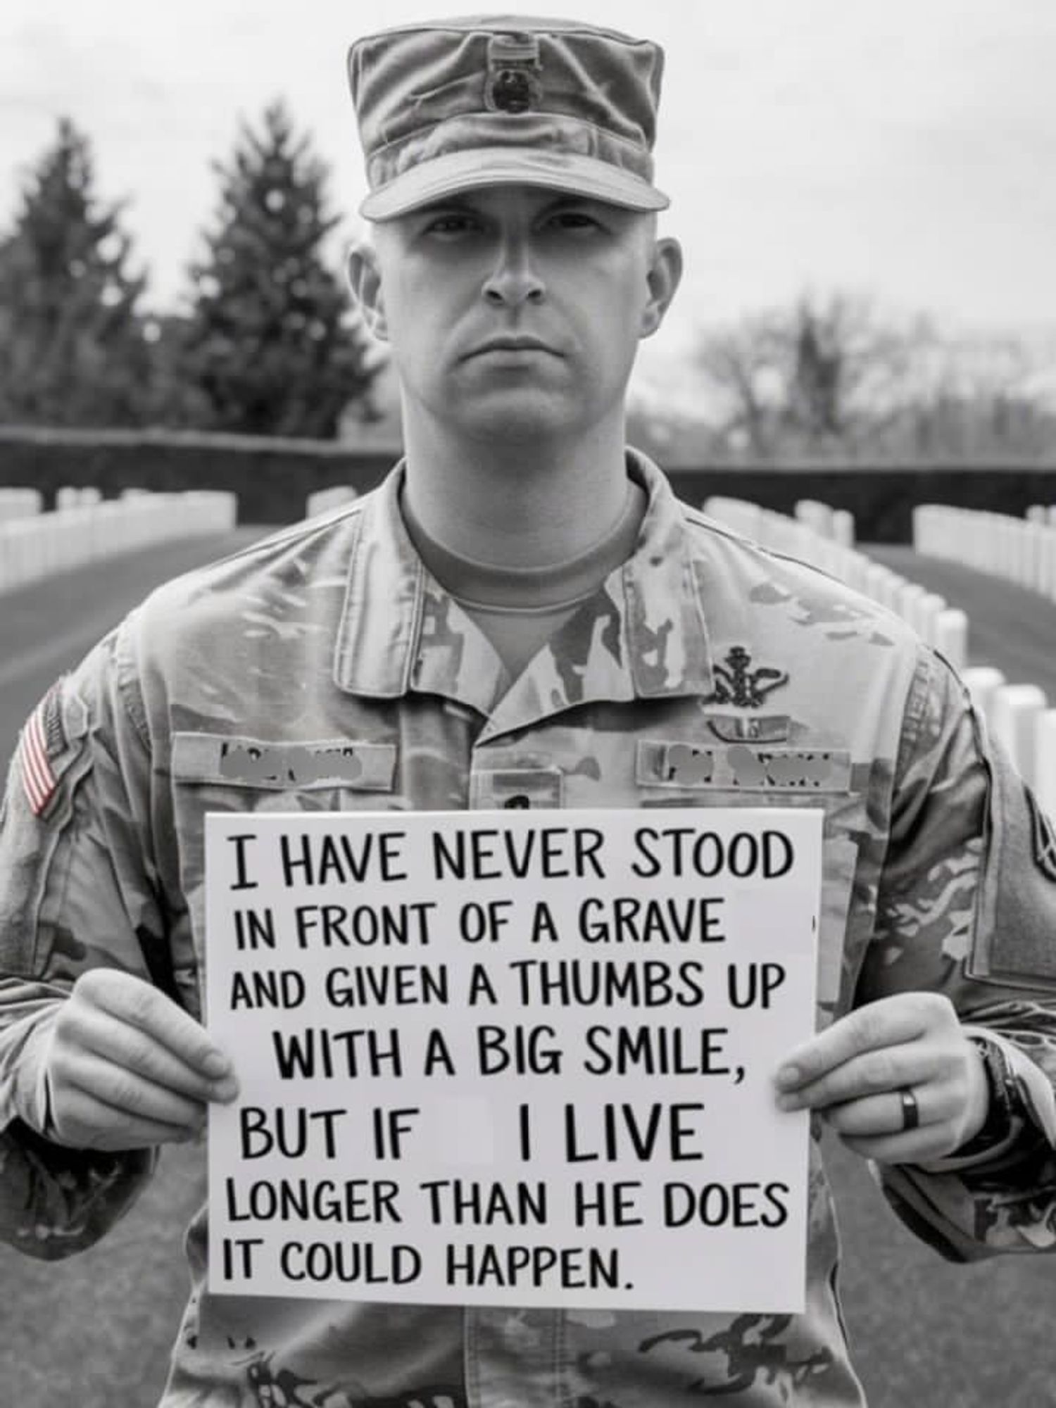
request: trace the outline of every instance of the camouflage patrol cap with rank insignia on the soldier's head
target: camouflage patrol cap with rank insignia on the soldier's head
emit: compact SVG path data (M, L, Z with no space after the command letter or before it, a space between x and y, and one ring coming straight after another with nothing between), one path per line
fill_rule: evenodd
M483 186L663 210L652 148L663 51L573 20L479 15L400 25L348 55L367 220Z

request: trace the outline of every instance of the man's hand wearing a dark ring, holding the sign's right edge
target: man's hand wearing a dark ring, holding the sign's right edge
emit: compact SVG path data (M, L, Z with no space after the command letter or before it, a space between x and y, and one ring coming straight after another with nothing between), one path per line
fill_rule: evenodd
M981 1129L990 1100L979 1052L936 993L900 993L842 1017L788 1055L776 1084L781 1110L821 1111L843 1143L881 1163L946 1157ZM904 1090L917 1104L912 1129Z

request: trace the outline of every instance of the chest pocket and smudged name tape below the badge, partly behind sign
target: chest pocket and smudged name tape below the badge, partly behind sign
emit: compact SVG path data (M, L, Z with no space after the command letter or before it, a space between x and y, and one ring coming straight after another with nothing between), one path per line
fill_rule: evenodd
M860 962L849 936L859 848L867 829L850 753L787 743L697 745L641 739L635 758L643 807L805 807L825 814L818 934L818 1028L846 1005ZM867 931L867 925L865 931Z

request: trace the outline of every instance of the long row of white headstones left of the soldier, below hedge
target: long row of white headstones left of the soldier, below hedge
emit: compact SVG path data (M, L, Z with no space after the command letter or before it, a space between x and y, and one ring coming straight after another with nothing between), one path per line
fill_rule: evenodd
M0 593L152 543L228 532L238 518L237 497L211 490L130 489L104 500L61 489L54 513L41 513L35 490L0 490Z

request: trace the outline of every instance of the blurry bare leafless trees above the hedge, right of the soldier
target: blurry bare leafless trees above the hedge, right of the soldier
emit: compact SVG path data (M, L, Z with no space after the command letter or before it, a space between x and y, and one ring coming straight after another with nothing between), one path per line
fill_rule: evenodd
M759 458L1042 455L1056 448L1056 345L881 320L846 293L801 297L701 338L721 441Z

